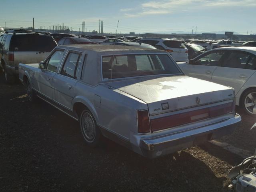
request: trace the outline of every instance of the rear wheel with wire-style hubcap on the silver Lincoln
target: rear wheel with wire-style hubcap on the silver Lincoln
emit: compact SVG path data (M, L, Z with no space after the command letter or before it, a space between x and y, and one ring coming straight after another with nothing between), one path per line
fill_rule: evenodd
M102 134L89 110L85 109L82 111L79 123L80 130L86 144L90 147L98 146L100 144Z

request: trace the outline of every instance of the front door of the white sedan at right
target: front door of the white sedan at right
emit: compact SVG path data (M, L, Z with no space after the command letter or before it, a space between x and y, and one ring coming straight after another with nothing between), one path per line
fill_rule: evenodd
M221 63L223 55L223 50L207 52L196 57L194 60L190 60L190 62L182 68L182 71L188 76L211 81L212 74Z

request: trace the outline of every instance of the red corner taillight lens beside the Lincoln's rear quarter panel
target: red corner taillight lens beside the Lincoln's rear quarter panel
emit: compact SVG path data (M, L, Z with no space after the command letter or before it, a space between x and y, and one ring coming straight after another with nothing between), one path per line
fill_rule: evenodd
M138 133L148 133L150 132L150 123L148 117L148 110L137 110L137 120L138 120Z

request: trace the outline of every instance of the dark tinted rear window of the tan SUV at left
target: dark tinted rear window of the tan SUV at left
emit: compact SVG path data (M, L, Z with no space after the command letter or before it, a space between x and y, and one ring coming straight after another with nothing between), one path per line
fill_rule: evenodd
M57 46L51 36L26 34L14 35L10 43L10 51L41 51L50 52Z

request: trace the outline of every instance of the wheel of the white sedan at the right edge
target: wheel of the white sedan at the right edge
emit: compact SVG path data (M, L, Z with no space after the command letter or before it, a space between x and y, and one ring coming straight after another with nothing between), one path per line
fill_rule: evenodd
M256 116L256 88L244 92L241 99L241 106L247 114Z

